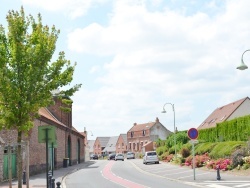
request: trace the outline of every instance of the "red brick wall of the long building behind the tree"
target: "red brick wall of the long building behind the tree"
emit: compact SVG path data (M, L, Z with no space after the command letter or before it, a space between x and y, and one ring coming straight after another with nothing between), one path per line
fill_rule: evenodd
M38 143L38 126L48 125L48 123L42 122L40 120L34 121L34 127L29 133L29 164L30 164L30 175L45 172L46 169L46 144ZM70 131L63 126L56 126L56 136L57 136L57 148L55 149L55 169L61 168L63 166L63 159L68 157L68 136L71 138L71 164L78 163L77 155L77 142L80 142L80 161L84 161L84 137L83 135ZM1 138L5 141L6 145L8 142L10 144L16 144L17 132L16 131L0 131ZM27 140L28 138L23 138ZM3 180L3 147L0 147L0 181ZM25 147L23 147L23 150ZM25 154L25 152L23 152ZM25 168L25 160L27 156L24 157L23 168Z

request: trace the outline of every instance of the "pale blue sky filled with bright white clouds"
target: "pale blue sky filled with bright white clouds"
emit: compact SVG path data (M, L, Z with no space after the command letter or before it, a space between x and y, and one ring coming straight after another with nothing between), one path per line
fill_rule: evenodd
M249 96L250 69L236 69L242 57L250 66L248 0L1 0L0 24L21 6L60 29L54 57L77 63L72 121L90 140L156 117L197 128Z

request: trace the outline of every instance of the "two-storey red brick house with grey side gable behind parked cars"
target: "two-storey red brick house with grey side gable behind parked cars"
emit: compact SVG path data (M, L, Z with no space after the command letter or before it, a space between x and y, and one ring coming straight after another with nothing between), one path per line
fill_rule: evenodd
M143 152L143 146L157 139L165 140L171 131L166 129L156 118L155 122L137 124L127 132L128 151Z

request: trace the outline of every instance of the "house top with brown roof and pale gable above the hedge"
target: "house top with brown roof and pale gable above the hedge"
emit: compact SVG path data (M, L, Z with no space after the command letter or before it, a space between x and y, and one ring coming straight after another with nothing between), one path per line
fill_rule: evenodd
M217 123L232 120L241 116L250 114L250 99L243 99L226 104L216 108L198 127L197 129L208 129L216 127Z

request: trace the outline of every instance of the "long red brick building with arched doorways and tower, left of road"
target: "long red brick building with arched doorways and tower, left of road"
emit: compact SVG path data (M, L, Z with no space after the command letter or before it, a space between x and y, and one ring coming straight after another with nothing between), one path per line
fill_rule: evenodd
M34 127L28 135L23 135L23 169L29 164L30 175L46 171L46 144L38 143L38 127L53 126L56 132L54 148L49 148L49 168L58 169L67 165L81 163L85 159L84 135L72 126L72 110L63 112L60 109L61 100L54 98L55 104L47 108L39 109L39 118L34 120ZM72 106L71 106L72 108ZM8 179L8 147L11 148L12 174L16 175L16 146L17 132L15 130L0 131L2 142L0 143L0 181ZM27 150L29 143L29 150ZM50 145L51 146L51 145ZM27 152L29 151L29 152ZM27 155L28 154L28 155Z

